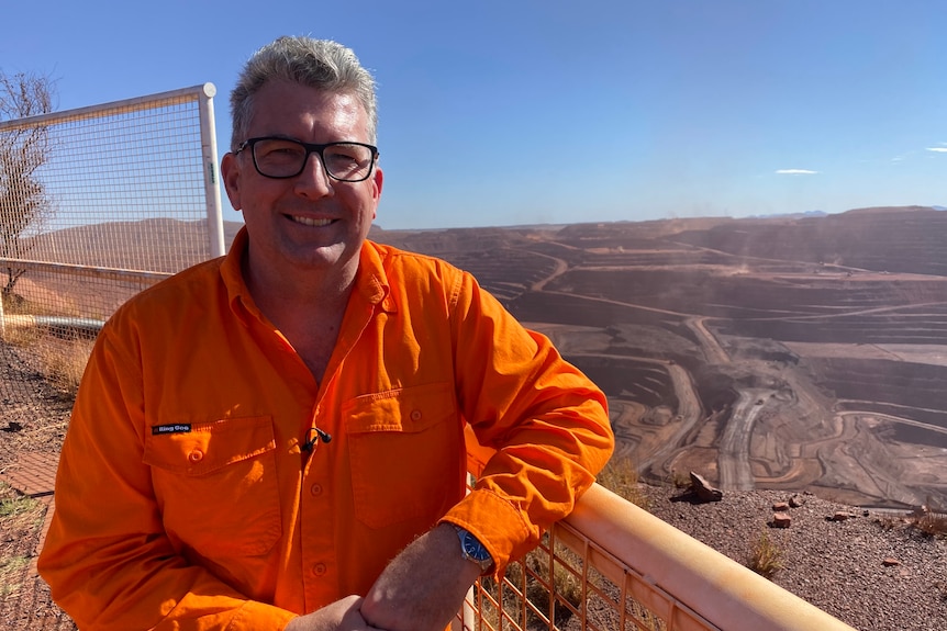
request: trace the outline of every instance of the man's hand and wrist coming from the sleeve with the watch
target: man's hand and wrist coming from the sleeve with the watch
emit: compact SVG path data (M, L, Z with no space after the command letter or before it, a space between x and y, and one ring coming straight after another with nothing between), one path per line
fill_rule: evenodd
M460 554L454 527L442 523L388 564L365 597L361 615L389 631L444 631L479 575L480 567Z

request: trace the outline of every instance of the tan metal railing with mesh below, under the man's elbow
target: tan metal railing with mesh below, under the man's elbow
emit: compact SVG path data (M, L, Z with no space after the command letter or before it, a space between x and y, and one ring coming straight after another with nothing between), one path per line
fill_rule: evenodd
M489 451L471 438L476 475ZM502 581L482 579L455 629L854 631L599 485Z

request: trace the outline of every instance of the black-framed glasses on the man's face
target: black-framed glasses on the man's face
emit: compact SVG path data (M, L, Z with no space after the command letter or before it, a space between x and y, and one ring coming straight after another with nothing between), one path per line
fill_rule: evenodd
M367 180L378 158L378 147L365 143L326 143L313 145L291 138L265 136L244 140L234 154L249 147L253 165L267 178L294 178L305 168L311 154L319 154L322 167L333 180Z

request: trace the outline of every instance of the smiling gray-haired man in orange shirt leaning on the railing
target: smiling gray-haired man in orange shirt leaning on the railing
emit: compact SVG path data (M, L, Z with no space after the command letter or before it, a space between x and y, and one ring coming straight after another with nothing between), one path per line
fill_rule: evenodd
M83 631L444 629L608 461L604 397L469 274L366 240L352 50L279 38L231 104L246 227L100 334L41 573ZM497 453L465 496L467 424Z

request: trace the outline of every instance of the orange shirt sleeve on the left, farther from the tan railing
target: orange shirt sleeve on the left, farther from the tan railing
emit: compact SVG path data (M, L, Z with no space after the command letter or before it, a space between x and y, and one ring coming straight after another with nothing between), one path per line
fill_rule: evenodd
M282 629L294 613L248 600L188 563L165 534L143 464L144 395L133 348L107 325L76 397L38 561L53 598L85 631Z

